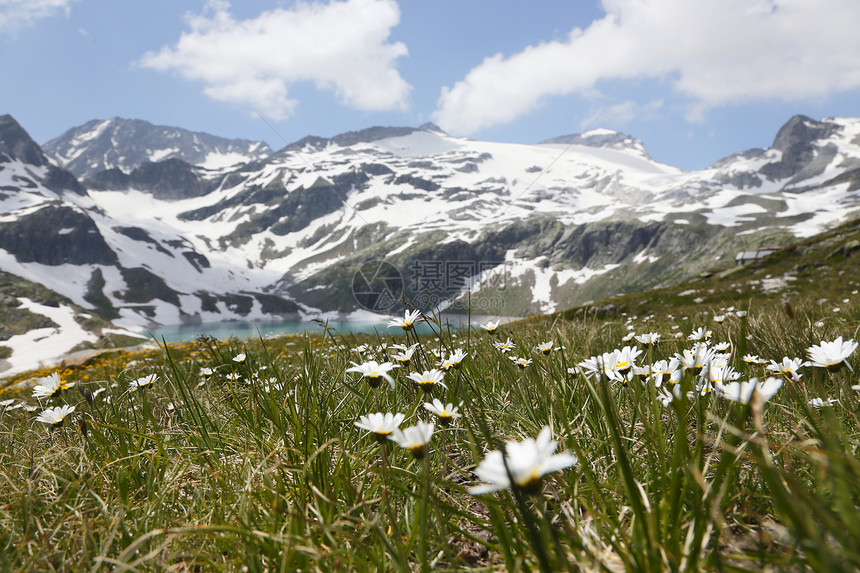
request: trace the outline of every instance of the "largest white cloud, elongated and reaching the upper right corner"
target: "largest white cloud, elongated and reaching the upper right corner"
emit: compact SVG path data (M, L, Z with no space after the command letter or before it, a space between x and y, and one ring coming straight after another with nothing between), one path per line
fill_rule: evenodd
M667 80L691 102L690 120L721 105L860 87L857 0L603 0L603 7L605 17L566 40L489 57L442 88L435 121L474 133L546 96L592 95L611 80Z

